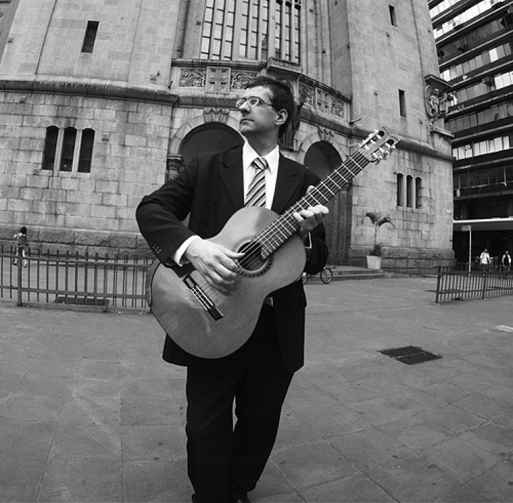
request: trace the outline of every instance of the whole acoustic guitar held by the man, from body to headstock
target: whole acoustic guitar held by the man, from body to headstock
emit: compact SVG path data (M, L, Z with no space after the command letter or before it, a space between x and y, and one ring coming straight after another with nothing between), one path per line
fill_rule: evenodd
M250 337L265 298L301 278L305 247L294 212L327 203L369 163L391 153L398 137L384 128L362 142L342 165L282 215L242 208L209 241L244 253L230 294L211 287L192 265L166 267L156 260L146 277L146 300L164 331L192 355L230 355Z

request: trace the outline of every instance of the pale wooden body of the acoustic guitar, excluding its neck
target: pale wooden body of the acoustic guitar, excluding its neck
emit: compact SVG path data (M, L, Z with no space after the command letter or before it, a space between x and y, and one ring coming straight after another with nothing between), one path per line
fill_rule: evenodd
M301 276L305 247L297 234L267 258L261 258L259 243L254 241L278 217L265 208L243 208L209 240L252 256L239 260L230 294L210 287L191 265L165 267L154 262L146 280L146 298L178 346L202 358L230 355L249 339L265 298Z

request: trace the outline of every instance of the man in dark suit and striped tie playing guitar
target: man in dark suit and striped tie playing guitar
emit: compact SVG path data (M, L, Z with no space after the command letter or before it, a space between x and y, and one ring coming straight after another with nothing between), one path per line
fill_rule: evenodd
M283 213L318 177L279 153L294 98L284 82L259 77L237 101L242 147L194 159L162 188L142 199L142 235L166 265L190 262L211 287L237 295L237 260L243 254L208 241L244 205ZM255 160L255 158L258 158ZM305 244L307 273L327 260L323 218L314 204L294 213ZM183 221L189 215L188 226ZM306 298L301 280L265 299L257 326L234 353L204 359L166 335L164 359L187 366L188 476L193 502L248 502L278 432L281 407L294 372L303 366ZM171 337L170 337L171 336ZM235 403L237 422L232 424Z

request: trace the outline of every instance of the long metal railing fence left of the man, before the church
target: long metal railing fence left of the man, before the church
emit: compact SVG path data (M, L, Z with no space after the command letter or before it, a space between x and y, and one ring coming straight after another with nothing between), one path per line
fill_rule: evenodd
M24 302L146 309L144 287L149 257L79 256L0 247L0 298ZM17 260L18 259L18 260ZM17 260L17 264L14 262Z

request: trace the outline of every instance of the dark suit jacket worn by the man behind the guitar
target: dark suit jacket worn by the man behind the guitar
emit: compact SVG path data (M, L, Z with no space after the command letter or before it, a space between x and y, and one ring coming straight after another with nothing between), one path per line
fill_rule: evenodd
M319 179L302 164L280 155L272 210L281 214ZM166 262L186 238L211 238L244 205L242 148L210 153L193 159L179 175L142 199L136 217L140 232L161 262ZM181 221L189 215L188 227ZM312 249L305 271L318 273L328 255L323 225L311 233ZM272 293L279 347L285 368L303 366L306 297L301 281ZM164 360L191 365L197 357L186 353L166 336Z

